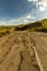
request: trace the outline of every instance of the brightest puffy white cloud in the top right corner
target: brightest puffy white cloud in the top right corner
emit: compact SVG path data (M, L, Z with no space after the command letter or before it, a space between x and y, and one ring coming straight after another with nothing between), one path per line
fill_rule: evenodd
M39 9L40 12L46 11L47 9L47 0L42 0L36 2L37 9Z

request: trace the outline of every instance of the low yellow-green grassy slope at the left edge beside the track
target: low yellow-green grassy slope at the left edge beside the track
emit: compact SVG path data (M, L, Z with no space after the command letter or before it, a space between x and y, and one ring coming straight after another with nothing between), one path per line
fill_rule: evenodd
M14 26L0 26L0 37L10 34L13 27Z

